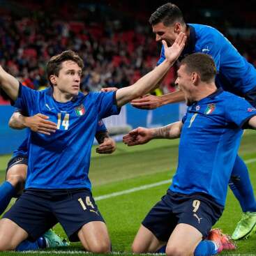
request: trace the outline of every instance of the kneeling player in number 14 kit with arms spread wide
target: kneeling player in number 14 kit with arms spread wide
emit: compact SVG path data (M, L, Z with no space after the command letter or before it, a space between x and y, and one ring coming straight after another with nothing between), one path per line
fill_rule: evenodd
M119 107L150 91L167 73L185 45L184 33L166 59L135 84L109 93L79 93L83 62L72 51L47 63L50 91L33 91L0 68L0 86L29 116L42 113L57 123L52 135L29 135L26 190L0 220L0 250L13 250L59 222L70 241L93 253L110 252L107 227L91 195L91 145L100 119L119 114Z

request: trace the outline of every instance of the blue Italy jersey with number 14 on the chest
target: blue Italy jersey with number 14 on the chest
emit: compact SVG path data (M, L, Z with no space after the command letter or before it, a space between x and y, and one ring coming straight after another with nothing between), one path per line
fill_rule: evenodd
M34 91L20 84L15 107L29 116L42 113L57 123L51 135L31 132L26 188L89 188L91 146L98 121L119 114L115 92L79 93L68 103L52 97L52 89Z

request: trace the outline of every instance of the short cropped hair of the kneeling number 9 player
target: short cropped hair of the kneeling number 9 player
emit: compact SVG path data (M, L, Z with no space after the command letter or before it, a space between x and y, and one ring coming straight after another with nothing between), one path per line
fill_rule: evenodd
M190 54L181 61L181 65L186 65L186 70L189 73L198 73L202 82L211 82L217 74L213 58L208 54Z

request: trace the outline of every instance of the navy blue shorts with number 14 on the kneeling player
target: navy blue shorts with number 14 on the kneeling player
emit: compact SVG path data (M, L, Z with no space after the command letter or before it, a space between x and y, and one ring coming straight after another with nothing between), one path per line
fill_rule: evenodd
M70 241L79 241L77 232L91 221L102 221L91 191L74 190L25 190L2 218L8 218L22 227L30 241L58 222Z

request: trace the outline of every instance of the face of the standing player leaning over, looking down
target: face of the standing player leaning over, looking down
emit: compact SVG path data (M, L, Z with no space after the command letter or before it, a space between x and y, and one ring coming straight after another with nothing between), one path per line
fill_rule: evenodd
M177 23L166 27L163 22L159 22L158 24L153 25L152 29L153 33L155 33L156 35L156 42L165 40L168 46L171 46L174 43L176 37L179 35L180 32L179 24Z

